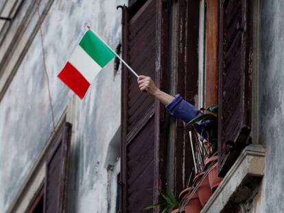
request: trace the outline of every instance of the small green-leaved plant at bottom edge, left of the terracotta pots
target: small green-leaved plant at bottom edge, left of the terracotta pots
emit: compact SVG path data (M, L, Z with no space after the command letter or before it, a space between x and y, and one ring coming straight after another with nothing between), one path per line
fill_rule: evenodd
M162 213L176 213L178 212L178 201L174 196L167 195L163 192L161 192L161 195L163 197L162 203L156 203L147 206L144 210L150 210L154 208L162 208Z

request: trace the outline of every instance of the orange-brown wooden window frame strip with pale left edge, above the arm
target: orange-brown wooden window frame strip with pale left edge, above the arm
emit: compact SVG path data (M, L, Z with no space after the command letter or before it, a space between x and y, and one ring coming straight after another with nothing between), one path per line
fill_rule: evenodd
M200 1L198 107L217 104L219 1Z

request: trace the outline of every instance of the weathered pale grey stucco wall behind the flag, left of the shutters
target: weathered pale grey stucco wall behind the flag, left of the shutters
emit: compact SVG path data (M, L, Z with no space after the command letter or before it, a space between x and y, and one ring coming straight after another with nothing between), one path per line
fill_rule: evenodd
M123 3L126 0L55 0L52 4L42 29L56 122L73 95L56 75L69 59L86 23L115 49L121 37L121 11L116 6ZM78 184L75 212L106 212L104 161L120 125L120 76L114 77L110 62L84 100L77 100L76 168L71 168L76 170L73 184ZM43 151L51 136L51 121L38 32L0 102L0 212L8 209Z

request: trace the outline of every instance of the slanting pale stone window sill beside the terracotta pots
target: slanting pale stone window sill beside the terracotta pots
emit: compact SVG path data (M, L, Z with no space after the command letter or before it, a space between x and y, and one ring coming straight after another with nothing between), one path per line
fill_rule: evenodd
M265 149L249 145L241 152L201 213L230 212L230 206L250 197L264 174Z

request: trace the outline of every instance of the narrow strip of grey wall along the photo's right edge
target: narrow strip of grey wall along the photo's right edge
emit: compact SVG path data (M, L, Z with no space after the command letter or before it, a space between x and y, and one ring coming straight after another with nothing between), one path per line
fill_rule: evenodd
M267 149L262 212L284 211L284 1L261 1L261 141Z

